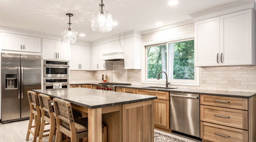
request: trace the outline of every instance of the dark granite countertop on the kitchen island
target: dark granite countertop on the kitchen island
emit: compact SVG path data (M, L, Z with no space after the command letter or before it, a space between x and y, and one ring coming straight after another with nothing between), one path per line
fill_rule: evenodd
M113 105L129 104L153 100L157 97L88 88L37 89L36 93L66 100L86 108L103 108Z

